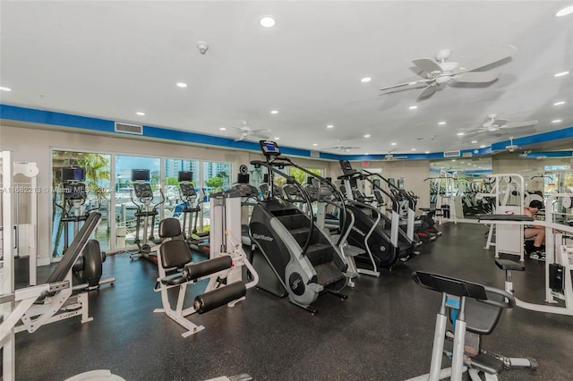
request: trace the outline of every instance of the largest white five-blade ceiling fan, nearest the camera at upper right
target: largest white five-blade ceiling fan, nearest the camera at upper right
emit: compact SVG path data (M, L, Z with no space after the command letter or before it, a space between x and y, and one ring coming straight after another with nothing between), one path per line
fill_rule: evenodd
M449 49L442 49L435 55L435 60L432 58L417 58L412 60L412 63L418 69L422 70L421 75L423 80L414 80L411 82L398 83L397 85L388 86L380 89L381 91L388 91L384 93L392 94L400 88L416 88L419 85L425 85L425 89L420 93L418 99L430 97L436 92L436 89L441 84L448 84L451 81L468 82L468 83L490 83L493 80L500 78L500 72L475 72L475 70L483 68L492 63L497 63L505 58L510 57L517 51L516 47L508 45L490 51L489 53L476 58L473 62L466 65L461 65L457 62L449 62Z

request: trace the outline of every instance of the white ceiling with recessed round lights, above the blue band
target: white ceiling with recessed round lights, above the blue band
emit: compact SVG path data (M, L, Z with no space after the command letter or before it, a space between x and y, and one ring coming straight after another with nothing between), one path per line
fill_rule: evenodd
M515 137L573 126L573 73L553 76L573 72L573 15L554 16L568 4L2 1L0 86L13 91L0 101L219 136L247 121L281 145L332 153L337 141L360 147L351 154L477 148L509 139L457 136L487 114L539 121ZM267 14L272 29L258 22ZM380 96L421 78L414 58L449 48L463 64L507 45L517 53L487 67L502 72L489 86L448 85L422 101L422 89Z

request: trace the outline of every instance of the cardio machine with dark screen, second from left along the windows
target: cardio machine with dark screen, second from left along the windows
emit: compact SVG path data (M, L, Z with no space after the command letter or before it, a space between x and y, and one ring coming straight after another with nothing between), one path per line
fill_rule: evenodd
M153 190L150 184L150 170L149 169L132 169L132 182L133 190L130 190L129 196L132 199L133 205L137 207L135 212L135 243L137 245L137 252L130 255L130 258L148 258L152 262L157 263L157 251L152 250L152 246L156 246L160 241L156 241L154 237L155 221L159 214L158 207L165 202L165 195L163 190L159 189L161 200L157 204L153 204ZM135 202L135 199L139 203ZM150 224L151 217L151 224ZM142 222L142 229L141 229ZM141 230L141 231L140 231ZM148 236L148 230L150 235ZM140 236L142 237L140 239Z

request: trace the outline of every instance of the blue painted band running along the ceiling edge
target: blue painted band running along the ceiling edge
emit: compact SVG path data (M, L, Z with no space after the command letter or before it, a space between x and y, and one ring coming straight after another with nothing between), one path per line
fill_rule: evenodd
M32 108L9 106L0 104L0 119L12 120L27 123L40 123L54 126L70 127L81 130L100 131L113 134L114 136L129 137L135 135L123 134L115 132L115 121L106 119L93 118L89 116L79 116L73 114L57 113L54 111L37 110ZM124 121L119 121L124 122ZM130 123L130 122L126 122ZM235 141L228 138L205 135L191 131L177 131L167 128L160 128L154 126L143 125L143 138L150 138L156 140L170 140L182 141L188 143L204 144L209 146L248 149L259 151L259 143L252 141ZM573 137L573 127L563 130L543 132L537 135L526 136L524 138L517 138L513 143L517 146L526 146L528 144L535 144L544 141L559 140L564 138ZM479 149L464 149L460 151L459 157L479 157L490 154L497 150L505 149L509 145L509 140L501 141L492 144L491 147ZM311 150L281 147L281 151L287 155L295 155L299 157L311 157ZM468 155L469 154L469 155ZM443 152L433 152L430 154L394 154L397 159L404 160L438 160L446 158ZM549 157L549 155L546 155ZM379 161L386 159L386 155L337 155L328 152L320 152L320 158L327 160L340 160L346 159L351 161ZM451 157L454 158L454 157Z

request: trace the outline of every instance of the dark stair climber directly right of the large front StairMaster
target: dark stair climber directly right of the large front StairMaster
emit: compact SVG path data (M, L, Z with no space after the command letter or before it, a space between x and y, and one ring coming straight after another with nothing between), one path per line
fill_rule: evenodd
M410 240L399 227L399 203L392 194L383 190L370 179L371 174L356 172L347 160L340 160L342 175L338 179L344 182L346 188L346 205L355 214L355 226L348 235L348 242L363 250L367 256L356 256L359 271L377 271L378 267L390 270L397 263L404 263L413 254L415 242ZM373 189L381 190L392 201L391 218L384 216L376 208L366 205L353 198L353 184L365 180L372 184ZM361 268L362 267L362 268Z

